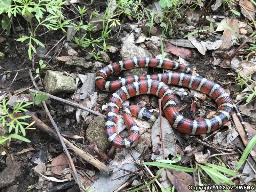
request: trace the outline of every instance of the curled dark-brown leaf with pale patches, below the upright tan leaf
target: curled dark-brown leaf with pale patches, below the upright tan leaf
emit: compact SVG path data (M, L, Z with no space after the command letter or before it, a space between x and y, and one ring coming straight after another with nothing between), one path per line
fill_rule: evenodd
M219 65L222 68L231 68L230 62L232 58L223 51L214 51L212 52L213 65Z

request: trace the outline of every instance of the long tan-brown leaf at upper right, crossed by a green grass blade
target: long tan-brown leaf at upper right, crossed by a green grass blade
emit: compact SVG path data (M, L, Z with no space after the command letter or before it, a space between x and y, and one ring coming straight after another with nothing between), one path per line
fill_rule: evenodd
M232 28L234 31L234 35L238 37L239 35L239 27L238 27L238 22L234 19L231 18L228 20L227 27ZM228 28L224 29L223 35L221 36L220 40L222 40L222 44L220 46L220 49L229 49L232 45L232 31Z

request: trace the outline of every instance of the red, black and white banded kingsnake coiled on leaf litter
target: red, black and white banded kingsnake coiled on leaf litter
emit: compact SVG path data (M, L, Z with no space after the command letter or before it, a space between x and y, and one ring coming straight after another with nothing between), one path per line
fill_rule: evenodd
M105 80L114 72L139 67L184 69L186 73L168 72L154 75L128 76L115 81ZM95 82L99 89L111 92L115 91L108 102L107 118L105 122L105 133L109 142L118 148L130 148L132 144L138 140L139 128L131 115L145 120L155 121L155 117L152 117L152 114L147 109L138 106L130 106L124 110L124 121L131 131L130 136L121 138L117 134L116 123L120 105L124 100L141 94L153 94L158 96L162 101L166 119L172 127L179 132L190 135L213 132L228 121L234 109L248 136L243 118L229 94L219 84L205 79L198 74L192 75L193 73L194 71L185 65L154 58L133 58L118 61L107 65L96 73ZM204 92L217 103L217 112L206 119L191 120L183 117L178 112L174 94L167 84L179 85Z

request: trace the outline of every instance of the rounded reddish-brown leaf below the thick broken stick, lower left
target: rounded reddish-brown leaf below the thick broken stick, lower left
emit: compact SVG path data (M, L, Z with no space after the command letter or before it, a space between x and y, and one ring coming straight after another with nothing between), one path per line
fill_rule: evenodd
M67 167L69 167L68 160L64 153L60 154L52 160L51 171L56 175L62 175L61 172Z

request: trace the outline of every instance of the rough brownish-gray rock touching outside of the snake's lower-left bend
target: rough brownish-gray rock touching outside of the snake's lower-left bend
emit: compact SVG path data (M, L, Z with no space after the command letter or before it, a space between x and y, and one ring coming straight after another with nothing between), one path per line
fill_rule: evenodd
M111 145L108 142L104 131L105 119L103 116L97 116L88 125L86 129L86 138L90 143L96 142L100 151L106 152Z

